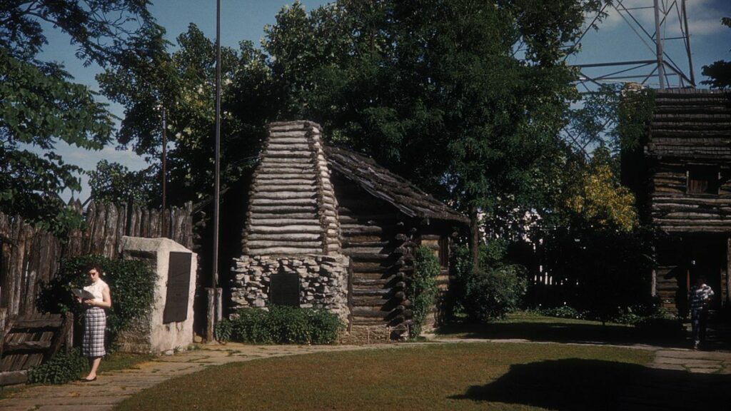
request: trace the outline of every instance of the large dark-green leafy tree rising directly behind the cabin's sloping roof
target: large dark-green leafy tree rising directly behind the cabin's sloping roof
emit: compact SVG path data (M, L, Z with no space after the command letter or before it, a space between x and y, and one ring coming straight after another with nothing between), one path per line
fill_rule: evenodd
M564 150L576 97L561 45L598 4L341 0L307 15L295 3L263 45L279 116L319 121L469 211L473 233L479 210L501 232L544 200L536 176Z

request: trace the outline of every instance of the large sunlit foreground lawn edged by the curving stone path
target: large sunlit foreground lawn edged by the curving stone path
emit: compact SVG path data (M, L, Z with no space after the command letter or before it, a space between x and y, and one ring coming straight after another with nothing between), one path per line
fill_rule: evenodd
M482 342L297 355L168 380L118 410L613 410L653 355Z

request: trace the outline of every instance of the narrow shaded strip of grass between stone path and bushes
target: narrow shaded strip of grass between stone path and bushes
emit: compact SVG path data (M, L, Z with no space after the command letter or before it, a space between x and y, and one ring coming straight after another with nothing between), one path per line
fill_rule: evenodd
M507 319L479 325L447 325L437 331L440 338L529 339L545 342L605 342L608 344L650 343L685 347L683 339L653 339L632 325L546 317L532 312L515 312Z

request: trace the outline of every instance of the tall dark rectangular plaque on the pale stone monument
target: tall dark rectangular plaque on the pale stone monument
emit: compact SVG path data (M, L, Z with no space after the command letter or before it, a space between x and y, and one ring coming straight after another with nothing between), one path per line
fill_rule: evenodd
M167 265L167 294L162 312L163 324L177 323L188 318L192 255L189 252L170 252Z

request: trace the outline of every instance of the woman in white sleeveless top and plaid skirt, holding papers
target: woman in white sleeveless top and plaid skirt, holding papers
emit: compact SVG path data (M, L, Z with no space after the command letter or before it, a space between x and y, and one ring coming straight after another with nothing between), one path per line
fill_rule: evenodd
M102 357L107 354L104 348L104 333L107 328L107 314L105 309L112 307L112 297L109 286L99 278L101 271L98 265L89 265L87 275L91 285L84 287L84 290L94 295L94 298L82 301L84 311L84 336L81 344L81 353L89 359L89 373L83 378L84 381L96 380L96 369L102 362Z

